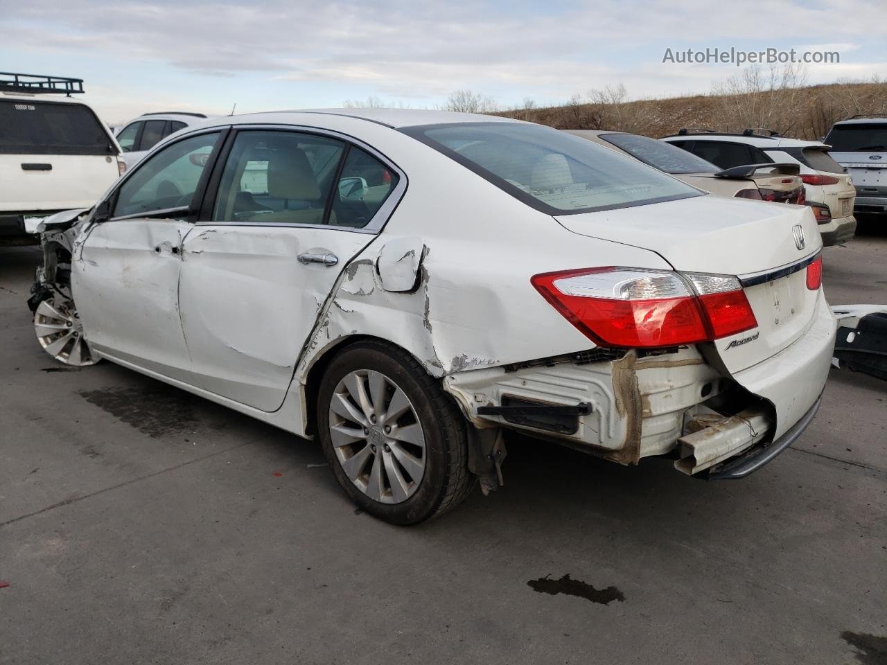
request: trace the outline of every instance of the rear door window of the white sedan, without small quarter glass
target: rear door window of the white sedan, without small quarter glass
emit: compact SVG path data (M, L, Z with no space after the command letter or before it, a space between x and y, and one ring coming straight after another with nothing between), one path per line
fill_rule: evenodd
M327 223L345 144L289 131L242 131L222 172L214 222Z

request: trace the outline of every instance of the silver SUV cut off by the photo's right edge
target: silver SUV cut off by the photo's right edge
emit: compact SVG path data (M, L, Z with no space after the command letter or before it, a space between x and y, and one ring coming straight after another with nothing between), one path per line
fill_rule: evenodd
M887 213L887 117L854 115L825 139L831 156L853 176L856 213Z

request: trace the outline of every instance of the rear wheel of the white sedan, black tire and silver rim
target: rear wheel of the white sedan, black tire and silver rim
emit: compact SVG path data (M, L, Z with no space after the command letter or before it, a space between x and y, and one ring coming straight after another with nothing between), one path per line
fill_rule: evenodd
M475 486L465 419L436 379L400 348L381 341L345 348L320 381L317 409L320 442L336 480L359 508L381 520L407 525L431 519L459 505ZM422 446L414 443L419 435Z

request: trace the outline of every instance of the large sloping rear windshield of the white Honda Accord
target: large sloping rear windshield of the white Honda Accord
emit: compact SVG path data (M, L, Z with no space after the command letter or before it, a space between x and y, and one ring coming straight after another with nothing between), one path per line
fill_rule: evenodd
M477 122L403 131L549 215L703 193L602 145L540 125Z

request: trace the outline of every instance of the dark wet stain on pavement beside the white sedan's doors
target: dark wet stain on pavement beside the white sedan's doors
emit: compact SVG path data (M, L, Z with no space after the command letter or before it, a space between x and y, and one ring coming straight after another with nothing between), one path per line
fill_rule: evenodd
M107 387L80 393L90 404L153 438L192 430L199 398L166 386Z

